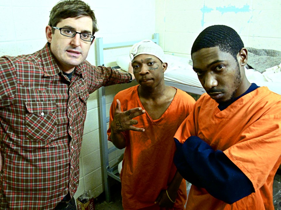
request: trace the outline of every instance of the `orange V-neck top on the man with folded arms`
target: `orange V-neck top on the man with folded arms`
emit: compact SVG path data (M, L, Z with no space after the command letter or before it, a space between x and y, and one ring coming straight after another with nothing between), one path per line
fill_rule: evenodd
M213 150L222 150L250 179L255 192L227 204L192 185L187 208L274 210L273 178L281 163L281 96L259 87L225 110L217 106L203 94L174 138L184 143L190 136L198 136Z

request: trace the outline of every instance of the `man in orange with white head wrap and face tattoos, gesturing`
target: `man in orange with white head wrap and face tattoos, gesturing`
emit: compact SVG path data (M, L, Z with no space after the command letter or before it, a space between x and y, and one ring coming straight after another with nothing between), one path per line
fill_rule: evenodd
M115 96L108 130L117 148L126 147L120 174L123 207L184 209L186 184L173 163L173 136L195 100L165 85L167 63L160 46L144 40L130 56L139 85Z

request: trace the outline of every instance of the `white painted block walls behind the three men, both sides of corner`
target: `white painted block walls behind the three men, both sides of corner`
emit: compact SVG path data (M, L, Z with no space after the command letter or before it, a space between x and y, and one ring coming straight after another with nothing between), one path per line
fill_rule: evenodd
M33 53L47 42L45 27L49 11L58 0L0 1L0 56ZM104 43L152 38L160 33L166 53L190 56L191 46L207 26L225 24L241 35L245 46L281 51L280 0L85 0L95 11ZM116 65L116 56L128 49L104 52L105 65ZM87 60L96 64L95 43ZM132 84L106 87L107 111L114 95ZM80 185L75 197L85 189L98 196L104 190L100 148L98 92L90 95L80 154ZM108 114L107 114L108 116ZM109 143L111 146L112 143ZM113 152L110 165L122 159L124 150Z

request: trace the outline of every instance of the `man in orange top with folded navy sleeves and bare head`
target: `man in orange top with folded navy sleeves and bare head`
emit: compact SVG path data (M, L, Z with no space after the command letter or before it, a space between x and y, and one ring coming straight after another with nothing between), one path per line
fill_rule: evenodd
M191 56L206 93L174 136L174 163L192 183L187 208L274 210L281 96L247 80L247 50L230 27L204 29Z

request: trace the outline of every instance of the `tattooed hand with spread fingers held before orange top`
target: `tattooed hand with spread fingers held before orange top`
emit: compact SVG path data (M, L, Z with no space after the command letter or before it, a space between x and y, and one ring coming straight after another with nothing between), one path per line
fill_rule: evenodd
M145 110L143 110L140 107L137 107L127 110L125 112L121 112L121 103L118 99L116 100L116 102L117 102L117 106L116 106L115 114L110 124L111 132L120 133L122 131L128 131L128 130L141 131L141 132L145 131L143 128L137 128L133 126L138 124L138 121L133 118L145 113Z

